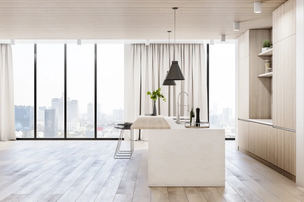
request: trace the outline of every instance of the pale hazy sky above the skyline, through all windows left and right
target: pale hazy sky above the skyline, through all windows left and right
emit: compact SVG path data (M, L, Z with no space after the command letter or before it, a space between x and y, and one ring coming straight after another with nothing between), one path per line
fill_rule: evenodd
M205 45L206 47L206 45ZM16 105L34 106L34 45L12 46ZM97 102L104 113L123 109L124 45L97 45ZM37 107L51 106L64 92L64 44L37 45ZM67 45L67 96L80 113L94 103L94 44ZM235 44L209 46L210 109L231 107L235 114Z

